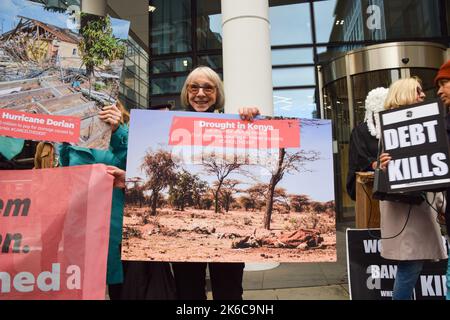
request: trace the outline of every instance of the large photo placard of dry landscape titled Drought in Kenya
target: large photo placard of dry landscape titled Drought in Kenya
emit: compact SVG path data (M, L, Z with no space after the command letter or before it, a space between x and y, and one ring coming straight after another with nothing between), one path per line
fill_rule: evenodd
M132 110L122 258L336 261L331 123Z

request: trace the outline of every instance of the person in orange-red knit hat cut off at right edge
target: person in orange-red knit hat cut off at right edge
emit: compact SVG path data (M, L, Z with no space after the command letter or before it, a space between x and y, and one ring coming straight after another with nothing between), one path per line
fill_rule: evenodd
M436 87L438 88L438 96L441 99L441 101L444 103L445 107L447 108L446 113L446 121L447 121L447 137L450 141L450 116L449 116L449 110L450 110L450 60L444 63L440 68L439 71L434 78L434 83L436 84ZM446 192L446 204L445 207L445 226L446 226L446 237L447 242L450 241L449 239L449 232L450 232L450 205L448 205L450 201L450 188L447 189ZM448 261L447 265L447 300L450 300L450 259Z

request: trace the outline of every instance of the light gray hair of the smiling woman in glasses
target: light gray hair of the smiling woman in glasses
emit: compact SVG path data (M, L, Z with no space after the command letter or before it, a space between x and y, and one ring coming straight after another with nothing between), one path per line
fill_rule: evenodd
M189 96L187 87L192 82L192 79L199 74L207 77L214 84L214 86L216 86L217 94L216 94L216 103L214 107L216 110L222 109L223 106L225 105L225 92L223 89L223 82L220 79L217 72L215 72L210 67L206 66L199 66L194 70L192 70L191 73L189 73L188 77L186 78L186 81L184 82L183 89L181 89L180 95L181 104L185 108L189 107Z

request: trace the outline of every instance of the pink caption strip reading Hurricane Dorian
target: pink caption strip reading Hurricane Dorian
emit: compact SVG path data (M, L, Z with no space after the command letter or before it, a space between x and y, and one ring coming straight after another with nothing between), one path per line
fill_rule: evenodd
M0 135L78 143L80 118L0 109Z

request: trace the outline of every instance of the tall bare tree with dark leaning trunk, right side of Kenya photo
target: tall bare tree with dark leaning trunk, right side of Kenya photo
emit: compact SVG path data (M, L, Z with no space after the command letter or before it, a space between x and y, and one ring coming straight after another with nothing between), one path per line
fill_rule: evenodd
M266 198L266 212L264 214L264 228L270 230L270 219L272 217L273 199L277 184L283 179L284 174L300 172L305 170L306 162L319 159L317 151L298 151L288 154L286 149L280 148L276 167L271 171L271 178Z

